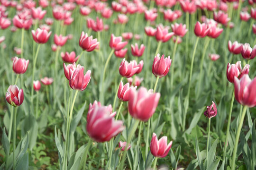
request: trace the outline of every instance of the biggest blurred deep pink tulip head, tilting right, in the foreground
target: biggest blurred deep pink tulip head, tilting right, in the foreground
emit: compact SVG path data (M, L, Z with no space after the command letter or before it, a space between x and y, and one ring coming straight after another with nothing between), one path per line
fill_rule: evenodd
M87 114L86 130L88 135L97 142L109 141L124 130L123 121L110 116L106 106L96 105L90 114Z

